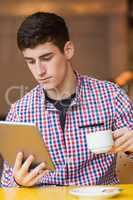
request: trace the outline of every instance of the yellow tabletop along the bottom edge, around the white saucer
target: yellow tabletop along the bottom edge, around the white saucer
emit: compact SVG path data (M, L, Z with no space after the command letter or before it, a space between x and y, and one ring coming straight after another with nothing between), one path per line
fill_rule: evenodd
M114 186L114 185L113 185ZM123 189L113 200L133 200L133 184L115 185ZM77 200L69 194L75 187L1 188L0 200Z

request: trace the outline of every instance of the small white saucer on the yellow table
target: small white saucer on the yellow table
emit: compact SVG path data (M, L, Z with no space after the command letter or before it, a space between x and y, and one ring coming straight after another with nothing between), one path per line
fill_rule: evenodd
M70 194L79 197L80 199L103 199L116 196L121 189L117 187L103 187L103 186L88 186L70 190Z

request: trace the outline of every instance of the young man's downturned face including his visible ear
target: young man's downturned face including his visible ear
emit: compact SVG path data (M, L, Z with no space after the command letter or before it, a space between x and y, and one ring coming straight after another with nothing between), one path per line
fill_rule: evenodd
M70 41L65 44L64 52L52 42L46 42L33 49L27 48L22 53L34 78L45 90L61 87L73 56L73 45Z

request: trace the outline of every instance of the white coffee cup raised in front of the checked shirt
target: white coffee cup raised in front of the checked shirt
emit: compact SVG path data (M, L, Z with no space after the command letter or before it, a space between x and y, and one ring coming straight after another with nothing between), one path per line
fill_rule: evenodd
M93 153L107 153L114 145L111 130L103 130L87 135L88 148Z

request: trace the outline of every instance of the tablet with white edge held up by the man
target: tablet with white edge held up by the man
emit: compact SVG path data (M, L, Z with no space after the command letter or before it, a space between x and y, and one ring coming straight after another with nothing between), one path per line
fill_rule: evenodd
M0 121L0 154L13 167L18 152L23 152L24 160L33 155L32 167L41 162L46 168L55 170L50 154L35 124Z

